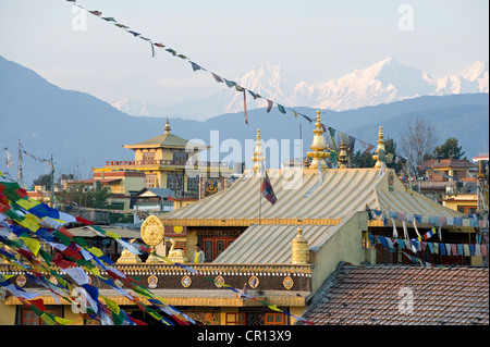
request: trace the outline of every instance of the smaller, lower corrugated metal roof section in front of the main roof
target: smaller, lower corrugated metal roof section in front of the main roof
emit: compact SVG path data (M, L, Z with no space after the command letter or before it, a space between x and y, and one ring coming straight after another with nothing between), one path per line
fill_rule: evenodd
M338 225L303 225L309 249L333 235ZM252 225L231 244L213 263L286 264L291 263L291 241L297 225Z

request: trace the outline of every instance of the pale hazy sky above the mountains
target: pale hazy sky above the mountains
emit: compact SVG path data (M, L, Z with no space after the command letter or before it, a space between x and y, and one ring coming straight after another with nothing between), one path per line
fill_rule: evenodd
M77 2L229 79L265 62L318 84L388 57L433 77L489 60L487 0ZM0 0L0 55L109 103L170 106L225 88L64 0Z

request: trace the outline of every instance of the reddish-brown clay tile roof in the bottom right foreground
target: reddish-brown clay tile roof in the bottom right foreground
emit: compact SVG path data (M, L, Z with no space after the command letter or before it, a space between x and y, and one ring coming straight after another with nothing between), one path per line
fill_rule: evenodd
M303 317L320 325L488 325L488 268L342 264Z

